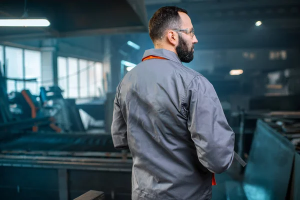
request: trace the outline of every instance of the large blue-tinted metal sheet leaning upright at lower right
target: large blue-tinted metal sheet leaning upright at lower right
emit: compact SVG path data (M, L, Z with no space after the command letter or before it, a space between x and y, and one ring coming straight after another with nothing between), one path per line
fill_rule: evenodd
M243 190L248 199L284 199L291 174L294 146L262 120L246 165Z

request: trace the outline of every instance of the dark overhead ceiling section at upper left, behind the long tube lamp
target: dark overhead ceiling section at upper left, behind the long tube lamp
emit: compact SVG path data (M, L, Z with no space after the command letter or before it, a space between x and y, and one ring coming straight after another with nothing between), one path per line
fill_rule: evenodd
M1 0L0 17L21 17L24 0ZM27 0L29 17L48 27L0 27L1 40L147 31L143 0Z

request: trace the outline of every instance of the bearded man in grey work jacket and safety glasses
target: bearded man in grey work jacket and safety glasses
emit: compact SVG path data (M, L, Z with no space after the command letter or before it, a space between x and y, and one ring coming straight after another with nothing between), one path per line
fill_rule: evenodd
M119 83L111 125L115 148L132 154L132 199L210 199L234 133L213 86L182 65L197 43L187 11L161 7L149 35L155 48Z

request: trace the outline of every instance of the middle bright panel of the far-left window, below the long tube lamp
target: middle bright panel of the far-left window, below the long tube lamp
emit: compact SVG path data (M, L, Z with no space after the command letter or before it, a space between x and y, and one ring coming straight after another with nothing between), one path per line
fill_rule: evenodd
M23 79L23 49L5 46L5 60L7 78ZM24 81L7 80L6 83L7 93L24 88Z

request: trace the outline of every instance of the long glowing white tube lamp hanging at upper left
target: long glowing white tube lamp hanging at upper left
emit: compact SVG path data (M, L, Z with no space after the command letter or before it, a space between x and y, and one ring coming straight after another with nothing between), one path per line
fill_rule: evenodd
M0 19L0 26L49 26L50 22L44 18L38 19Z

